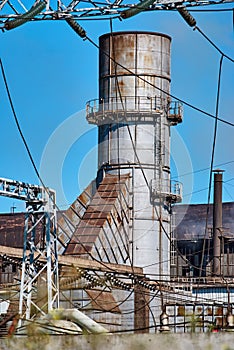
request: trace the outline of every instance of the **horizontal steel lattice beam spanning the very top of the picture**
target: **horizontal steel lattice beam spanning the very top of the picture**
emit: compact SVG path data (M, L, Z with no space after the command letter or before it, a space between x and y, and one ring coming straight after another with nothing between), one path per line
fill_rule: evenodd
M143 0L136 3L129 3L126 0L0 0L0 28L12 29L8 24L12 20L19 20L23 24L33 20L69 20L88 19L98 17L119 17L126 18L126 11L129 9L144 10L171 10L178 6L193 7L205 5L218 5L231 3L234 0ZM140 12L139 11L139 12ZM11 25L11 24L10 24ZM17 23L17 26L19 24Z

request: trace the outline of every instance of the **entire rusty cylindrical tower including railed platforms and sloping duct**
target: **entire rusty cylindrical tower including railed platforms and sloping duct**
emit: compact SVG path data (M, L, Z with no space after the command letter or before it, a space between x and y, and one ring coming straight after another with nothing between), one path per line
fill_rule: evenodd
M170 275L171 205L181 201L170 179L170 127L182 121L169 98L170 44L153 32L100 37L99 98L87 103L98 126L97 192L65 252L159 280Z

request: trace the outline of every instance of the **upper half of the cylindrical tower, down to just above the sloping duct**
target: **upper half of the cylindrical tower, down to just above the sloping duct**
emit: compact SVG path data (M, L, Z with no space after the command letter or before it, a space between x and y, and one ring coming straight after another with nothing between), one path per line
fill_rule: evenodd
M100 37L99 101L105 112L113 112L119 127L105 122L99 126L99 168L103 164L137 161L129 130L124 128L126 121L134 135L141 163L155 165L156 153L160 153L164 167L169 167L169 124L165 117L160 120L161 114L157 111L166 109L169 101L170 43L169 36L152 32L118 32ZM122 111L126 115L120 125L118 119ZM147 112L148 123L145 122ZM136 130L130 113L142 115L137 125L143 124L144 131L139 127ZM152 145L156 148L154 152Z

